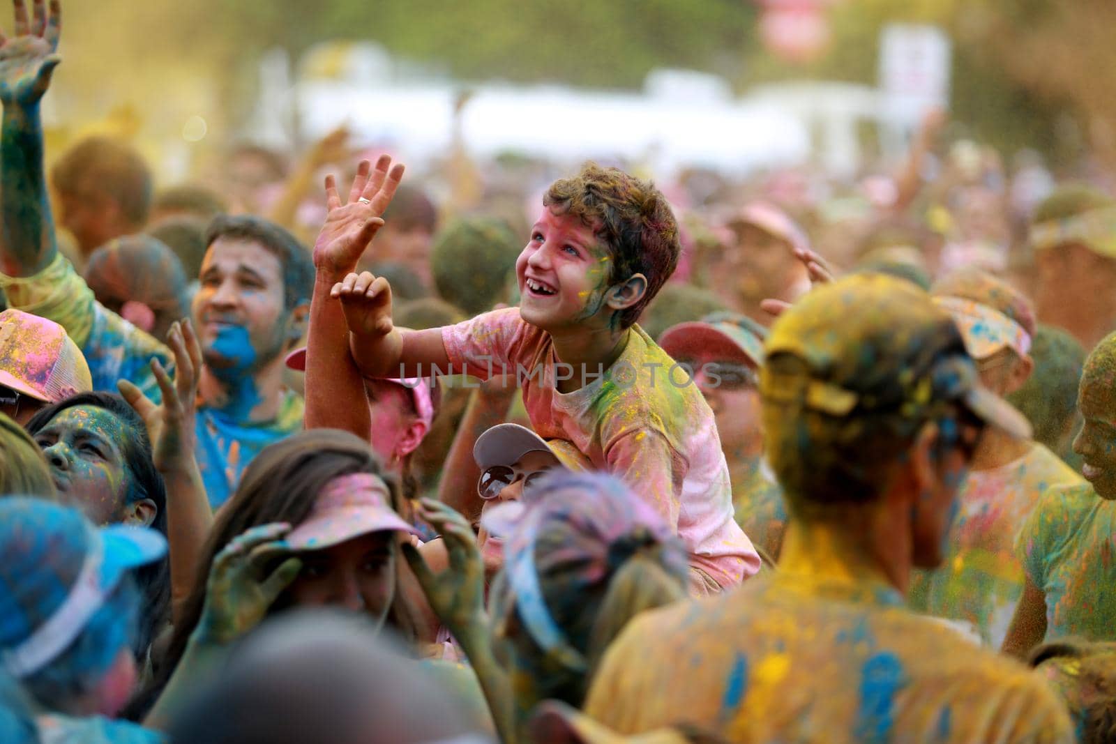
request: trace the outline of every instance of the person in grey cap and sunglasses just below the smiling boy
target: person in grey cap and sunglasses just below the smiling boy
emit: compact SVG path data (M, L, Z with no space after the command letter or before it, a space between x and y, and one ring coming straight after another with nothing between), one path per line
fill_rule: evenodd
M477 491L484 500L482 524L493 508L520 501L547 471L561 466L545 441L518 424L500 424L484 432L473 447L473 458L481 468ZM503 566L503 542L481 526L477 545L485 573L492 576Z

